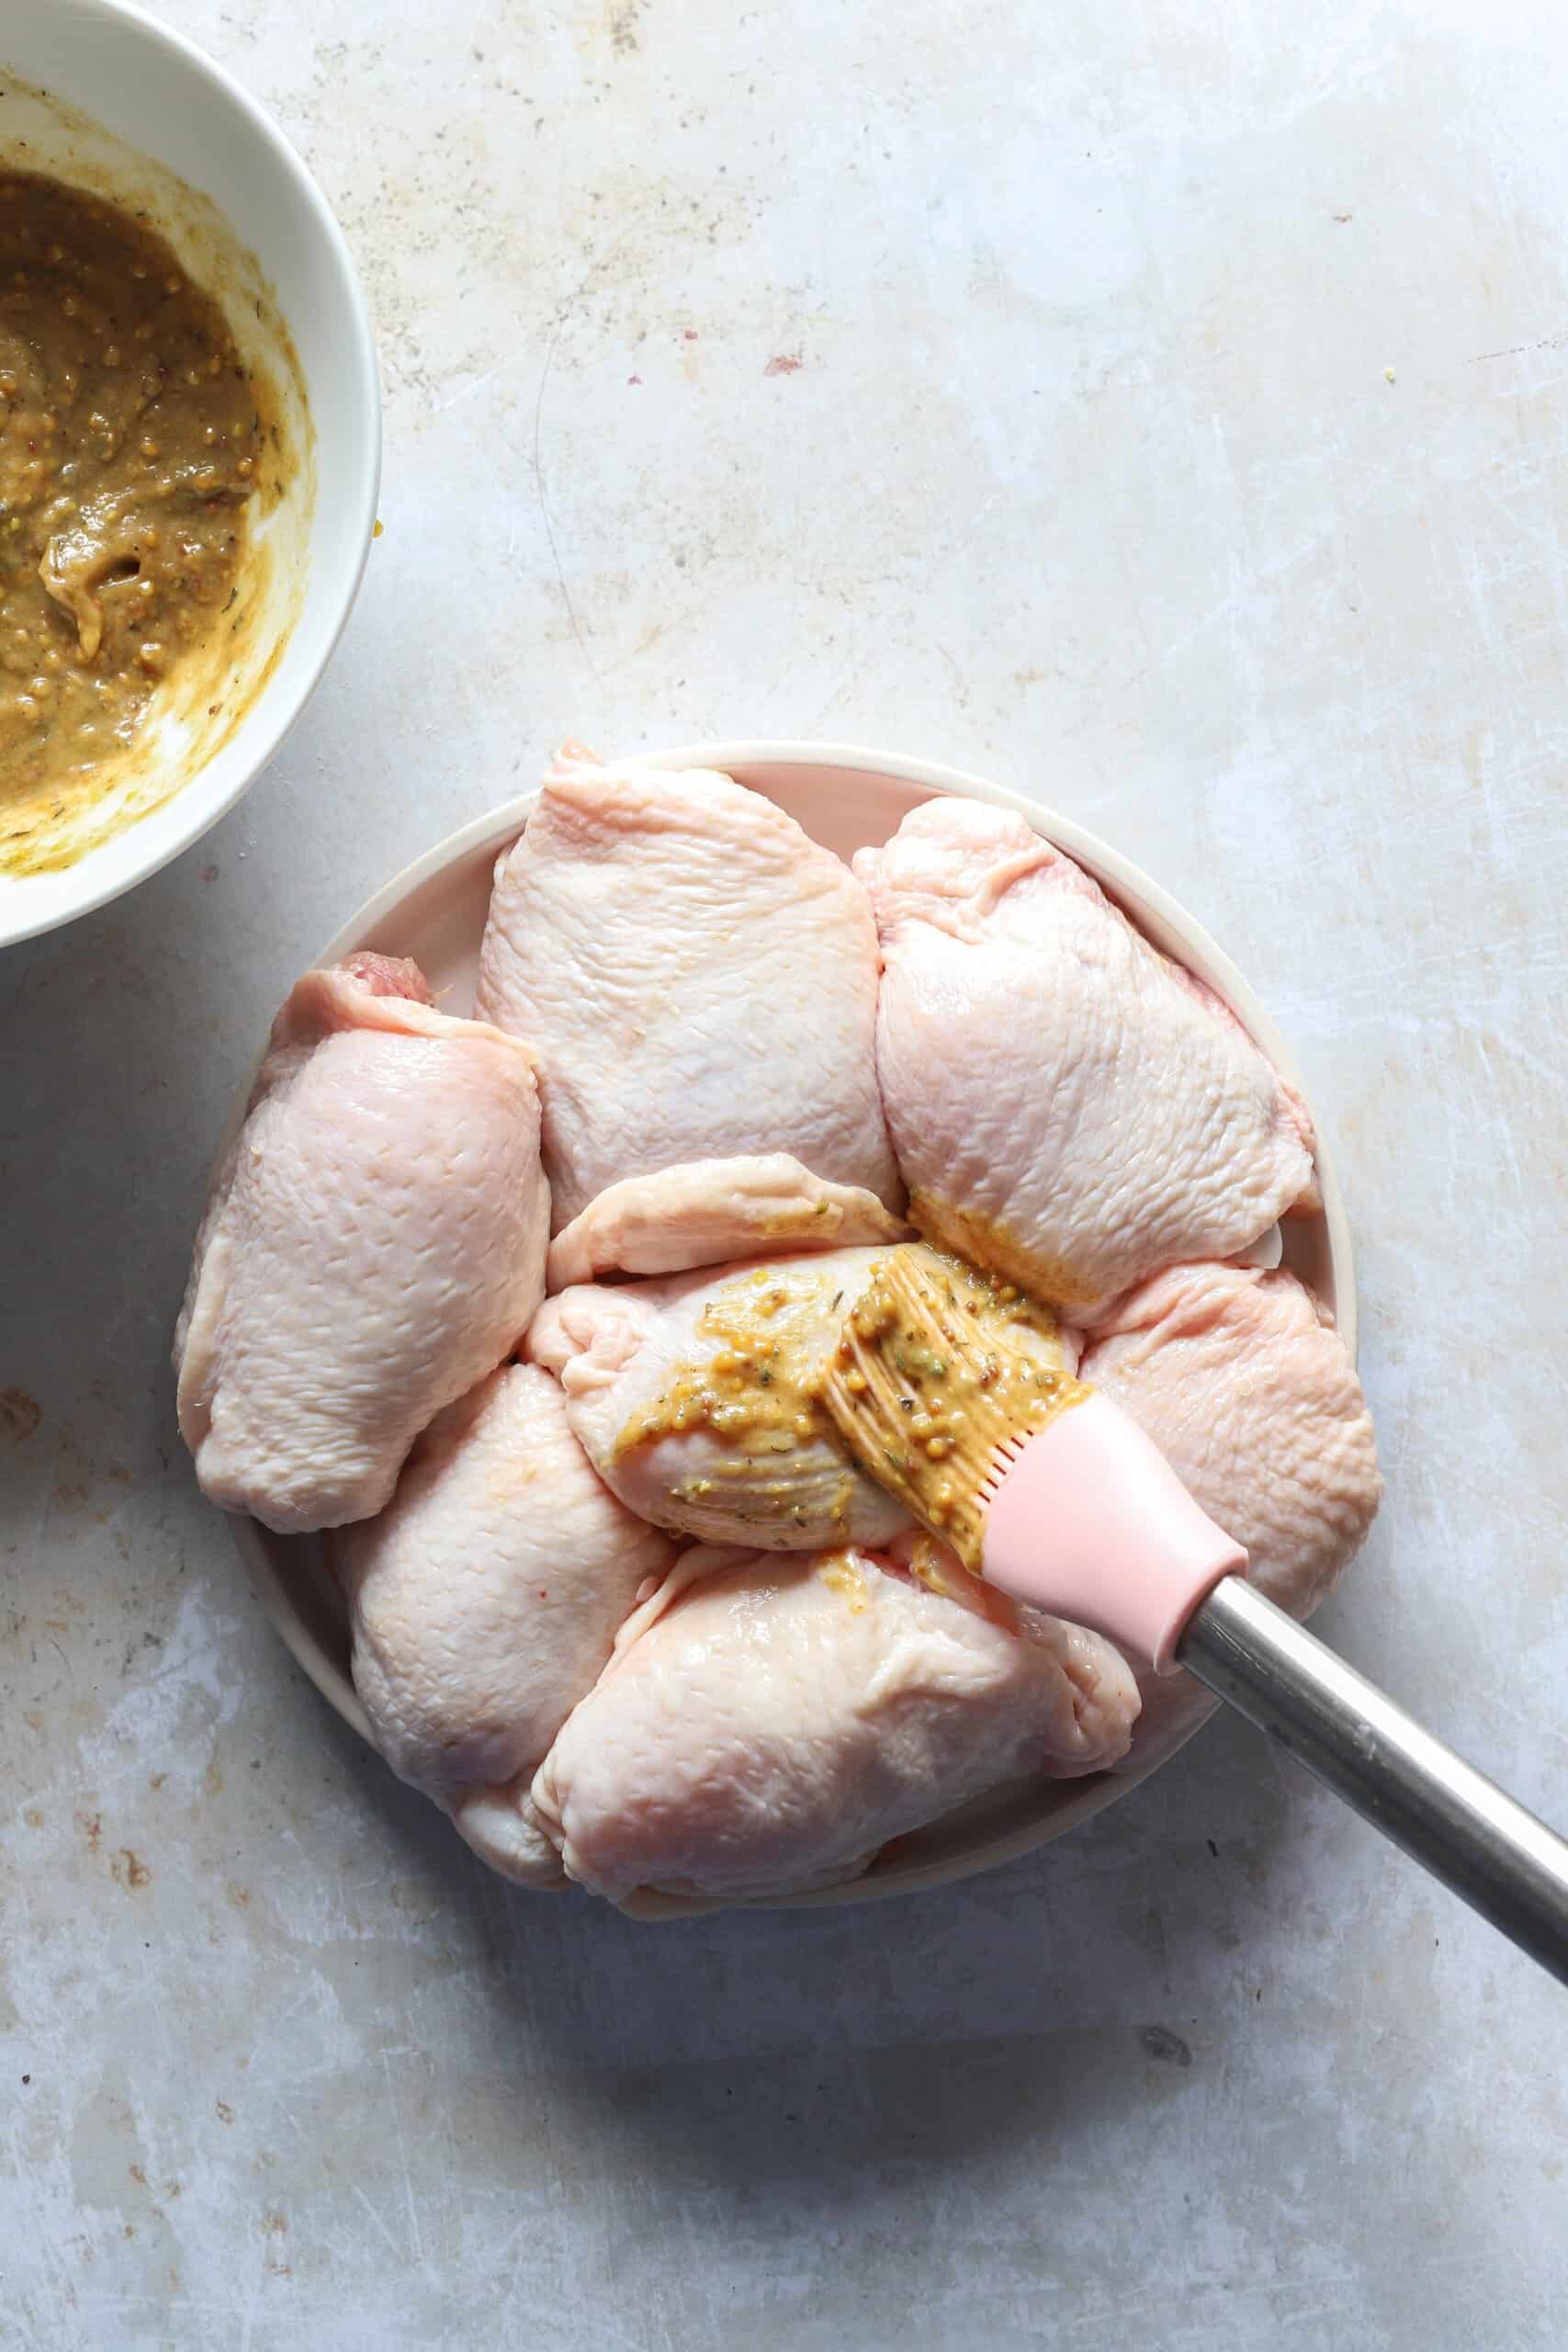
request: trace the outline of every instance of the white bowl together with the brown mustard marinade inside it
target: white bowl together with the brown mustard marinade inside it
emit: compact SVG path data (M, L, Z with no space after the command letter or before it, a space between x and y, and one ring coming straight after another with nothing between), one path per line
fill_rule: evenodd
M254 783L376 520L381 388L299 155L125 0L0 24L0 946Z

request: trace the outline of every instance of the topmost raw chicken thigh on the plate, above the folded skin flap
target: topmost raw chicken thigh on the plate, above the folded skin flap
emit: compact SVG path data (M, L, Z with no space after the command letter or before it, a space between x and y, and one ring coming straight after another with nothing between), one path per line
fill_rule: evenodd
M496 868L477 1011L538 1054L557 1230L625 1178L771 1152L903 1200L865 889L729 776L569 746Z

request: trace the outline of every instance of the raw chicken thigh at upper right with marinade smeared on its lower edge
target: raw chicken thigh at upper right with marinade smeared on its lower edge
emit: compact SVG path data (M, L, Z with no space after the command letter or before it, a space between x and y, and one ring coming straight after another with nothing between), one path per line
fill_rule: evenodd
M856 873L884 957L882 1098L945 1247L1088 1319L1307 1195L1295 1096L1023 816L931 800Z

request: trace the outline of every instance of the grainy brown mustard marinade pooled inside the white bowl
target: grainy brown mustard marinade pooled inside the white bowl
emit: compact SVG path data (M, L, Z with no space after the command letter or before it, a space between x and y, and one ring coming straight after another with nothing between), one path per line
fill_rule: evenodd
M0 868L223 626L266 433L223 313L162 238L0 172Z

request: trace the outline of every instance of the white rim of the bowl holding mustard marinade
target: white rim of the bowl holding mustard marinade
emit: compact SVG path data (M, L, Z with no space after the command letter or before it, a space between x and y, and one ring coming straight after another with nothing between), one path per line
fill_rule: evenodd
M78 5L82 5L82 0L78 0ZM136 835L146 835L146 840L153 842L148 856L134 861L129 873L120 873L113 880L103 882L89 882L80 901L73 901L66 908L56 908L54 913L45 913L38 917L28 917L19 908L21 920L14 927L7 924L5 920L7 910L0 906L0 948L21 948L28 938L42 938L45 934L59 931L63 929L63 924L78 922L82 915L94 915L101 906L110 906L115 898L122 898L129 889L136 889L141 882L148 882L155 873L162 873L165 866L172 866L176 856L181 856L186 849L200 842L205 833L212 833L219 818L228 816L228 811L237 807L240 800L244 800L244 795L263 774L263 769L273 764L284 741L289 739L294 724L303 715L306 706L313 701L315 689L327 675L327 663L331 661L343 640L343 630L348 628L348 616L355 609L360 586L364 581L364 567L369 562L371 539L376 529L376 506L381 501L381 362L376 358L376 336L371 332L369 306L364 301L360 270L355 266L353 252L348 249L348 238L339 228L336 214L327 202L327 198L322 195L315 174L306 165L303 155L289 143L289 139L273 122L266 106L261 106L261 101L254 99L249 89L242 82L237 82L226 66L216 61L216 56L209 56L207 49L197 47L197 42L193 42L188 33L181 33L172 24L165 24L162 16L148 14L148 9L139 7L136 0L85 0L85 12L99 16L125 16L141 33L146 33L146 38L155 47L167 49L169 54L183 59L186 66L205 75L209 82L214 82L216 89L228 99L228 103L244 115L249 127L270 151L284 176L294 183L294 188L303 198L306 209L315 219L315 226L322 235L322 245L327 247L327 254L331 256L331 266L339 278L346 358L353 374L357 376L355 402L364 407L369 421L369 430L364 433L362 445L360 442L355 445L357 482L350 477L343 492L353 520L353 532L346 536L350 539L350 543L355 539L360 541L360 553L348 569L341 597L341 612L327 628L320 654L310 666L310 670L303 675L292 708L280 710L277 717L273 717L263 729L259 729L254 753L247 755L240 776L230 786L226 786L209 804L200 804L197 809L193 807L193 802L197 802L202 776L207 774L207 769L197 767L195 776L190 776L188 783L179 786L179 790L160 809L150 809L148 816L143 816L139 823L127 826L122 833L110 835L110 840L101 844L101 849L113 849L120 842L129 842ZM0 31L0 42L2 40L5 33ZM134 141L127 141L127 146L134 146ZM226 221L230 221L240 242L244 242L242 223L235 221L223 205L219 205L216 209L223 214ZM353 459L355 452L348 454L350 463ZM188 823L183 826L172 823L169 837L165 840L162 828L158 828L158 818L169 816L169 811L188 814ZM92 861L99 854L101 854L99 849L89 849L82 858L75 861L75 866L66 868L66 875L78 870L89 870Z

